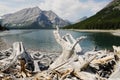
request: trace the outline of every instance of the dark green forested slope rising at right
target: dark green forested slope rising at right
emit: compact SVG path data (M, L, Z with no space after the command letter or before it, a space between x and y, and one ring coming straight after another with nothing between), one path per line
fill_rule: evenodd
M120 0L113 0L95 15L79 23L66 26L68 29L120 29Z

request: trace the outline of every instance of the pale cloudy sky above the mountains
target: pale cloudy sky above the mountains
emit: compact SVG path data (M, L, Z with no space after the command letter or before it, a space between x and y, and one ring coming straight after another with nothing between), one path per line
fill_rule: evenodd
M83 16L92 16L112 0L0 0L0 16L23 8L39 6L52 10L58 16L76 21Z

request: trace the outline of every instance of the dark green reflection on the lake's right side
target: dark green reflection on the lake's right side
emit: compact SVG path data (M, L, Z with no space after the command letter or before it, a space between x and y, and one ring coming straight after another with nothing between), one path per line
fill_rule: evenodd
M113 36L111 33L94 33L91 38L101 49L112 49L113 45L120 46L120 37Z

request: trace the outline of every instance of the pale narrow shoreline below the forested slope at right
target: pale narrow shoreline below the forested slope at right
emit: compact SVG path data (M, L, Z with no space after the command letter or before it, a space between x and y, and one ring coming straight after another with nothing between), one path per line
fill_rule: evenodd
M109 32L114 36L120 36L120 29L117 30L80 30L80 29L66 29L66 30L71 30L71 31L78 31L78 32Z

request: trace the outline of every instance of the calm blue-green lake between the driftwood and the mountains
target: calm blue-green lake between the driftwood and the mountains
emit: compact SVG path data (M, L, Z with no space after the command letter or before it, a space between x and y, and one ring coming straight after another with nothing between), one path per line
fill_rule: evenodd
M120 37L111 33L60 30L61 36L66 33L71 33L74 38L87 36L80 42L84 51L92 50L96 46L98 49L112 49L113 45L120 46ZM16 41L22 41L24 46L29 49L50 52L62 51L61 46L53 36L53 30L10 30L0 32L0 36L9 45Z

